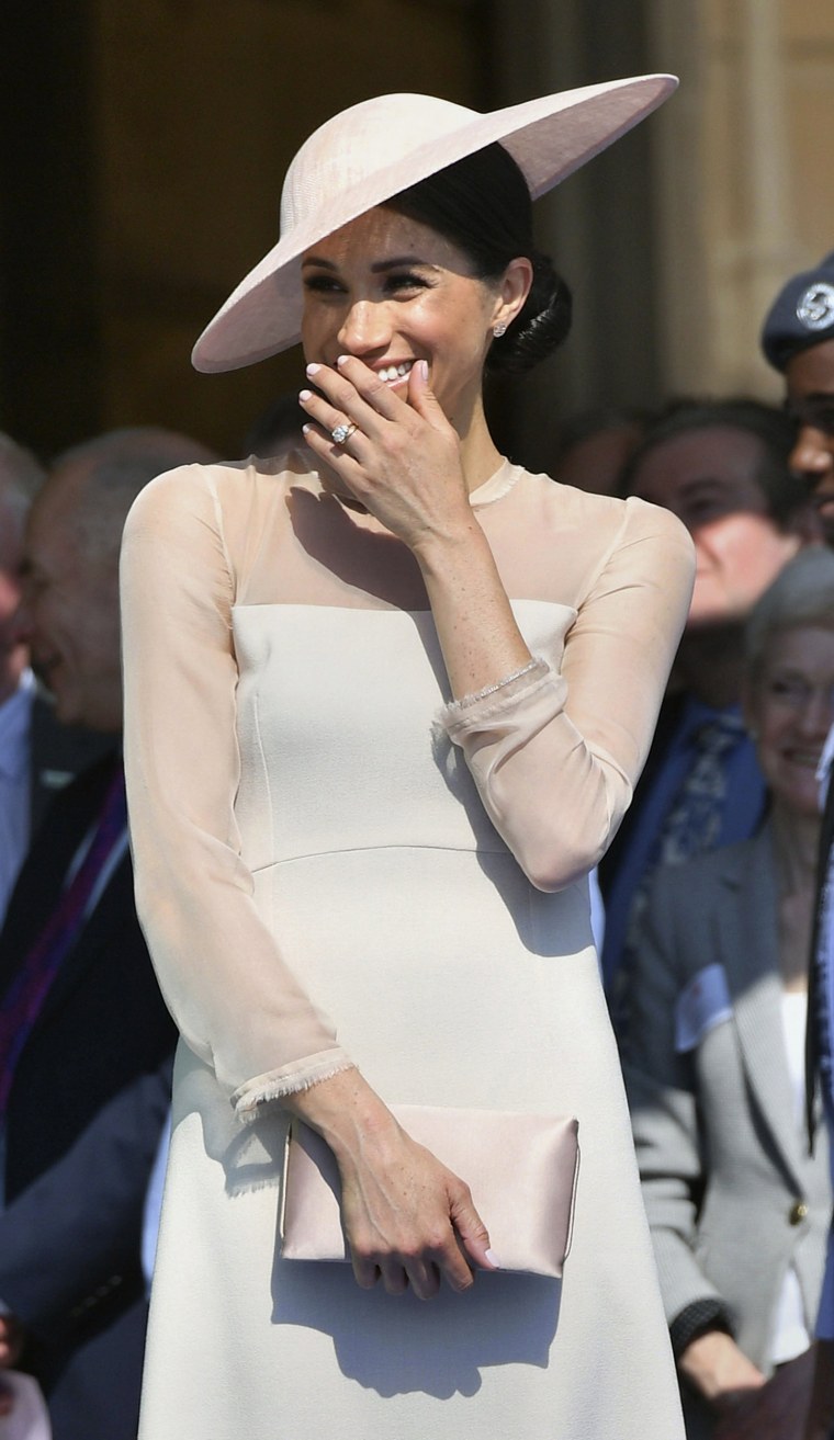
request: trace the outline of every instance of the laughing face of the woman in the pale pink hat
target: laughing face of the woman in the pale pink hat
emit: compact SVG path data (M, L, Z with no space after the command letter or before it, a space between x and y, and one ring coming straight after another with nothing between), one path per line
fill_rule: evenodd
M496 282L477 279L451 240L380 206L320 240L301 274L307 361L356 356L405 396L412 364L428 360L444 413L468 432L493 327L523 301L513 266Z

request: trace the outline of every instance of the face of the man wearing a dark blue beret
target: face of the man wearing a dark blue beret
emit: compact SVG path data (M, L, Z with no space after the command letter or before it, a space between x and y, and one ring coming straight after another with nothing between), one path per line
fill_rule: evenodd
M834 546L834 340L792 356L785 379L788 409L799 425L791 468L805 480Z

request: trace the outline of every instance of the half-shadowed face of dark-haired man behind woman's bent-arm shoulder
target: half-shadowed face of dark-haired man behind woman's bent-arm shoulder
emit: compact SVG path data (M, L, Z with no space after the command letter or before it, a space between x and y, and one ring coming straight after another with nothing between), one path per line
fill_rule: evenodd
M768 514L756 480L762 454L748 431L704 426L653 446L634 475L632 492L674 511L693 537L687 628L743 619L799 549Z

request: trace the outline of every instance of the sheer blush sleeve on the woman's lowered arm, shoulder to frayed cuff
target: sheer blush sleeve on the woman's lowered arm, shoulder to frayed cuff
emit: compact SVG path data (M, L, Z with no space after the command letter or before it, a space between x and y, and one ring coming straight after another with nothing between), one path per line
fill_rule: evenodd
M235 821L238 576L210 468L148 485L124 534L125 773L137 910L171 1014L238 1110L351 1061L254 901Z

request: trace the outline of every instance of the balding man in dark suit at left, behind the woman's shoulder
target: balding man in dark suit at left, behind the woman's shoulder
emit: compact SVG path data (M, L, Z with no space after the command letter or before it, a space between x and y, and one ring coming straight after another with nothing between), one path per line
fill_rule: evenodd
M114 1179L102 1156L124 1171L124 1138L105 1126L112 1143L98 1152L95 1169L69 1168L72 1184L81 1187L75 1195L66 1194L56 1179L62 1172L53 1168L69 1165L73 1146L108 1102L156 1070L173 1048L173 1024L133 903L118 749L118 549L143 485L173 465L206 458L202 446L166 431L102 436L56 462L26 528L17 635L53 696L56 719L114 743L53 801L0 932L7 1205L0 1215L0 1300L19 1312L3 1320L0 1361L3 1339L10 1342L20 1326L30 1332L23 1365L43 1384L56 1440L135 1437L144 1338L138 1246L121 1254L89 1293L89 1267L78 1247L95 1244L99 1225L79 1228L63 1264L56 1244L71 1211L99 1214ZM137 1094L143 1093L140 1084ZM144 1112L147 1125L140 1126L145 1151L153 1152L158 1138L158 1112L157 1089ZM35 1211L40 1247L30 1240L26 1251L20 1236ZM39 1276L22 1276L14 1253L39 1250ZM43 1254L48 1272L40 1270ZM45 1289L52 1292L52 1315L63 1320L55 1329L42 1323L49 1309Z

